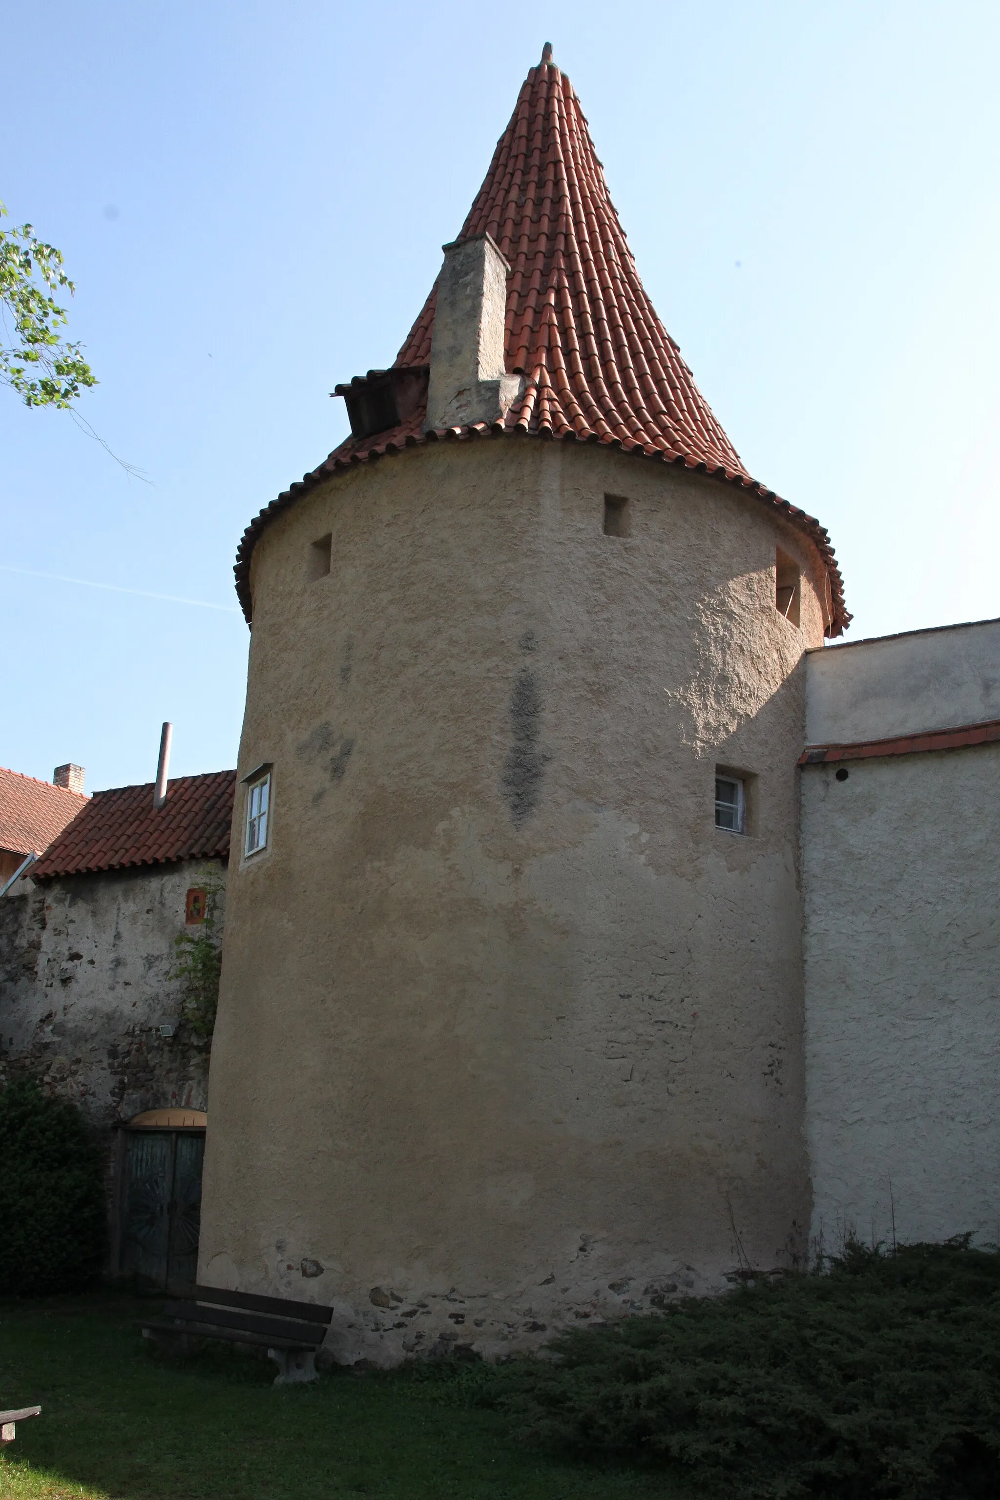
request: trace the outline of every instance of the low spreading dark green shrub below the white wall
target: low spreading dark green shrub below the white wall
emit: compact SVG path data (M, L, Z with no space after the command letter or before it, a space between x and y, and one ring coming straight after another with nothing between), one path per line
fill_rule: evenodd
M848 1246L827 1274L574 1330L456 1377L535 1440L658 1456L700 1494L1000 1494L1000 1254Z

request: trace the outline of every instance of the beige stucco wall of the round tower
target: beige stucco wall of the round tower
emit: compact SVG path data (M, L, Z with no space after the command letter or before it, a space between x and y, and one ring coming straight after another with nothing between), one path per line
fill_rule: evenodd
M802 1251L821 580L779 618L776 543L814 566L727 486L535 440L386 458L269 526L240 776L273 762L272 838L230 872L203 1281L333 1304L336 1358L386 1364ZM234 818L240 848L242 789Z

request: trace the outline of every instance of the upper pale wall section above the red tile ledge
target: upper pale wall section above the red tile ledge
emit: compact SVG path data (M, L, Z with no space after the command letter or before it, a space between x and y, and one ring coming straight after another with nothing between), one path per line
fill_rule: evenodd
M806 740L842 744L1000 718L1000 620L826 646L808 658Z

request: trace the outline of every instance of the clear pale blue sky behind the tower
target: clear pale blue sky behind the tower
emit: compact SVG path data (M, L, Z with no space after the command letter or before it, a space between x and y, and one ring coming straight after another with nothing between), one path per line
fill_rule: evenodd
M147 483L0 390L0 764L152 780L164 718L174 774L236 764L240 532L395 356L545 40L701 390L832 532L848 639L1000 615L1000 8L538 15L8 9L0 198L63 250L80 412Z

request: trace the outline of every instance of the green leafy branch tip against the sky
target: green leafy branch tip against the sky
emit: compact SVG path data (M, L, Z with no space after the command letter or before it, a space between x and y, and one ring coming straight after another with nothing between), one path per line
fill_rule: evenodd
M8 210L0 202L0 219ZM11 386L26 406L66 410L86 386L98 381L80 354L80 344L65 344L65 308L53 292L75 288L63 270L63 256L36 238L32 225L0 228L0 384Z

